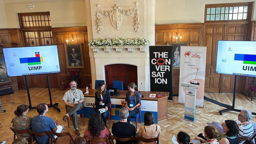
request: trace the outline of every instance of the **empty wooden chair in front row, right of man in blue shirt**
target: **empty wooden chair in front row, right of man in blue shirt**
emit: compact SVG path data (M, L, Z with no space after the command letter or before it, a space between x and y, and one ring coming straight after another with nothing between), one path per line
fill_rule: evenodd
M72 144L77 138L77 135L71 135L69 131L66 133L56 133L54 131L50 131L50 134L53 137L53 141L55 144ZM53 135L57 135L59 139L56 140Z

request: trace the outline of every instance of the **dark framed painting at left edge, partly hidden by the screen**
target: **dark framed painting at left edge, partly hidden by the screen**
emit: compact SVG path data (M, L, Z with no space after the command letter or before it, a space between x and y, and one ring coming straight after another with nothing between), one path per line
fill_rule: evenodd
M0 55L0 85L11 83L11 78L7 76L5 59Z

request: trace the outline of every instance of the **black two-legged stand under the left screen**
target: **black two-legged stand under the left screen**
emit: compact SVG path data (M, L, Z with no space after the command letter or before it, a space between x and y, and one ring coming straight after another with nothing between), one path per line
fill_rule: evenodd
M49 98L50 98L50 104L47 104L48 107L53 107L54 109L56 109L58 112L61 112L61 110L57 107L59 105L59 103L52 103L51 100L51 89L50 89L50 83L49 83L49 76L48 74L46 74L46 78L47 78L47 85L48 85L48 91L49 91ZM27 87L27 96L29 98L29 109L36 109L37 107L32 107L31 105L31 99L30 99L30 93L29 93L29 84L27 83L27 76L25 75L25 81L26 81L26 87Z

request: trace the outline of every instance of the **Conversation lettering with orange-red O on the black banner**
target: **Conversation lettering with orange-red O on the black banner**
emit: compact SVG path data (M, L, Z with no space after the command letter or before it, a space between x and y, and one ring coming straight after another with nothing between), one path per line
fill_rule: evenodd
M154 52L155 58L151 59L151 63L155 65L156 71L152 71L152 77L155 78L155 83L167 84L165 72L170 71L171 59L168 57L168 52Z

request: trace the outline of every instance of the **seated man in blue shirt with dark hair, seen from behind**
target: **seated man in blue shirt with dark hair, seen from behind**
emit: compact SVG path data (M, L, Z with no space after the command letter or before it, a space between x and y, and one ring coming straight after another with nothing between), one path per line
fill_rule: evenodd
M56 133L63 133L65 126L58 125L56 126L53 119L46 116L48 113L48 106L46 103L40 103L37 105L37 112L38 115L32 118L32 130L36 133L42 133L48 130L55 131ZM44 136L35 136L39 144L47 144L48 142L48 135ZM55 135L55 138L57 136Z

